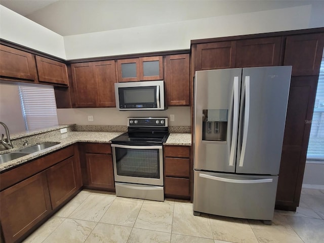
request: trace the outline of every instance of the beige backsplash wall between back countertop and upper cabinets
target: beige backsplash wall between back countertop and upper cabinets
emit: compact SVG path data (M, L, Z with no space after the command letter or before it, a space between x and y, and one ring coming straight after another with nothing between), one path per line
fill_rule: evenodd
M175 120L169 119L169 126L190 126L190 107L187 106L169 107L163 111L119 111L116 108L57 109L59 124L78 125L127 126L127 117L170 117L170 114L175 115ZM88 115L93 115L94 121L88 121Z

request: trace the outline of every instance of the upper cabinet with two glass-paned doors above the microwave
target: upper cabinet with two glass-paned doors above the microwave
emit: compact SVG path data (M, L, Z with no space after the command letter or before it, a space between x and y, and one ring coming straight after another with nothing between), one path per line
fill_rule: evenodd
M163 79L163 57L140 57L117 60L118 82Z

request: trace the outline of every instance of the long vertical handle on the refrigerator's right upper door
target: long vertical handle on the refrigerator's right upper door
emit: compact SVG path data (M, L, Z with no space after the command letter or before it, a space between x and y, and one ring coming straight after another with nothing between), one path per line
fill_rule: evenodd
M247 147L248 130L249 130L249 115L250 115L250 76L245 76L245 114L244 114L244 128L243 128L243 139L241 154L239 158L239 167L244 164L244 156Z

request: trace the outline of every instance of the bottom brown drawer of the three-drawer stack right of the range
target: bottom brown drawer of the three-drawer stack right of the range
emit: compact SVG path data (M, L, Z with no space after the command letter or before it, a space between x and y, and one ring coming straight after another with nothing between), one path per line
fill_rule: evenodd
M189 179L166 177L164 183L165 194L177 196L190 196Z

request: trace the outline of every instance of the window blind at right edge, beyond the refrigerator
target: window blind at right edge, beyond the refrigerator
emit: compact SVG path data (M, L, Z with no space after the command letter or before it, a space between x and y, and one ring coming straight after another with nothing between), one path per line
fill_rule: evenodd
M307 159L324 160L324 58L320 65Z

